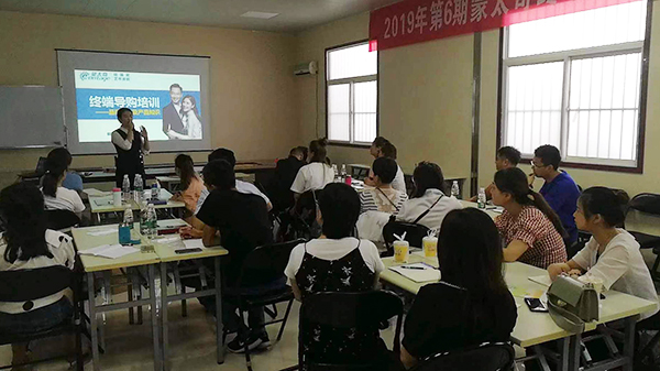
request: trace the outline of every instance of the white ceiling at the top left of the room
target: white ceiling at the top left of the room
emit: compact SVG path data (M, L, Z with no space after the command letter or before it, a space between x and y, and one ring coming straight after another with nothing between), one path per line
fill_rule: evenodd
M0 0L0 10L298 32L398 0ZM242 18L248 11L270 19Z

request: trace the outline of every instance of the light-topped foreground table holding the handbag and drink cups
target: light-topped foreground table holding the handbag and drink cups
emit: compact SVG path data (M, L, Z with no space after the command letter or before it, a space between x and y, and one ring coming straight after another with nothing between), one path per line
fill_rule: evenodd
M410 254L410 262L426 262L433 266L438 266L438 260L436 258L424 258L416 253ZM386 268L400 265L399 263L394 262L394 258L385 258L383 259L383 263ZM516 292L526 292L529 294L546 292L548 287L528 280L530 276L543 274L548 273L542 269L519 262L505 264L505 281L512 291L515 288ZM381 280L414 295L416 295L421 286L425 285L425 283L416 283L388 269L381 273ZM627 363L626 367L629 368L626 368L626 370L632 370L631 357L635 320L638 315L654 308L656 303L615 291L606 292L605 296L607 298L602 301L600 320L597 323L587 324L586 330L595 329L596 325L626 319L626 343L624 346L624 354L615 362L617 362L616 365L624 365ZM563 330L554 324L549 314L532 313L525 305L522 297L514 297L516 304L520 306L518 307L516 327L512 332L512 341L524 348L534 348L547 341L564 339L560 347L560 370L578 370L581 335L573 335ZM536 350L537 353L540 351L538 347ZM543 358L543 356L541 356L541 358ZM541 362L544 362L544 358ZM612 368L615 368L616 365L613 365Z

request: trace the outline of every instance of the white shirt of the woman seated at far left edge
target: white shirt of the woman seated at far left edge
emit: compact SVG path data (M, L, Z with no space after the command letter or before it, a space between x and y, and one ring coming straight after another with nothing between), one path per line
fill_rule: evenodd
M58 231L54 231L51 229L46 229L45 233L46 244L48 250L53 254L53 259L48 257L37 257L32 258L28 261L15 260L13 263L4 260L4 251L7 250L7 242L4 238L0 236L0 271L20 271L20 270L33 270L40 268L47 268L54 265L63 265L70 270L74 269L74 262L76 261L76 252L74 250L74 243L70 237L61 233ZM20 257L20 253L19 253ZM31 310L42 308L46 305L51 305L57 301L59 301L64 296L64 291L56 293L54 295L50 295L46 297L42 297L40 299L33 301L34 307ZM0 302L0 312L2 313L24 313L23 303L3 303Z

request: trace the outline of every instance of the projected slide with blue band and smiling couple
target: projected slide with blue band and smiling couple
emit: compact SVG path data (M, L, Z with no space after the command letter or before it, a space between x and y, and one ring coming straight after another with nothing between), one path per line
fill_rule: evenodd
M200 141L206 134L199 75L75 69L78 141L110 141L117 111L133 111L150 141Z

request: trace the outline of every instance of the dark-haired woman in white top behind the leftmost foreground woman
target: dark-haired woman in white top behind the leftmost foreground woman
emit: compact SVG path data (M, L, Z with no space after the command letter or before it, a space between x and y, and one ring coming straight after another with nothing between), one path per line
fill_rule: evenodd
M69 210L81 217L85 204L82 204L80 195L62 186L66 178L67 167L68 162L63 152L48 156L46 160L46 173L41 179L44 205L46 210Z

